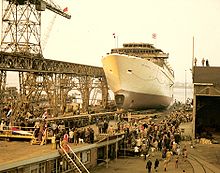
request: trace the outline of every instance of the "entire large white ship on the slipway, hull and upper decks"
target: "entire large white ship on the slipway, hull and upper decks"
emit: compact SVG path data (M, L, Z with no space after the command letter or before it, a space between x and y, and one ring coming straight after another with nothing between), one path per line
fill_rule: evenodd
M166 108L173 100L174 73L168 54L148 43L126 43L102 58L118 108Z

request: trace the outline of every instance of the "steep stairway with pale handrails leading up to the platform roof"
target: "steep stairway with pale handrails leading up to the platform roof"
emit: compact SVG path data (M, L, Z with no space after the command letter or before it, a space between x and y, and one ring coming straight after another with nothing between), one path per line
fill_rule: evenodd
M72 150L72 148L69 145L67 145L67 148L69 152L67 152L62 146L61 146L61 150L58 151L61 157L68 162L73 172L90 173L88 169L85 167L85 165L81 162L79 157L76 155L76 153Z

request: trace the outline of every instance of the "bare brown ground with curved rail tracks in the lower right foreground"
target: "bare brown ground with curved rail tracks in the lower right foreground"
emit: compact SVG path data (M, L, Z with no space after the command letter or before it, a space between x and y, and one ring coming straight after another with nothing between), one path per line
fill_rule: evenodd
M220 144L196 144L195 148L190 148L190 143L186 142L188 158L179 157L178 168L175 168L175 158L173 156L167 166L167 173L219 173L220 172ZM159 169L157 172L165 172L161 152L156 152L149 157L153 162L159 159ZM91 173L143 173L147 172L146 163L142 157L118 158L106 165L94 168ZM156 172L152 166L152 173Z

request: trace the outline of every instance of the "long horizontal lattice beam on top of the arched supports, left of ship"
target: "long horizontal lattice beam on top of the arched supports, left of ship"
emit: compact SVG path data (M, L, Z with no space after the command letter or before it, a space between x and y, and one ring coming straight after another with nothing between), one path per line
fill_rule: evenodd
M77 76L105 76L102 67L44 59L40 55L0 52L0 70L75 74Z

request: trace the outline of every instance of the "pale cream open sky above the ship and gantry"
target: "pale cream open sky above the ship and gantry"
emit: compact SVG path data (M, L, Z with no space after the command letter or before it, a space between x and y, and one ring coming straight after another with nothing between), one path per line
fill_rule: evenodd
M55 0L54 0L55 1ZM56 0L71 19L42 12L47 59L102 66L101 58L127 42L153 43L169 53L175 81L191 81L194 56L220 66L220 0ZM45 38L52 26L49 37ZM156 33L156 39L152 34Z

